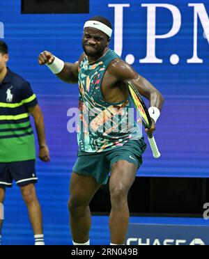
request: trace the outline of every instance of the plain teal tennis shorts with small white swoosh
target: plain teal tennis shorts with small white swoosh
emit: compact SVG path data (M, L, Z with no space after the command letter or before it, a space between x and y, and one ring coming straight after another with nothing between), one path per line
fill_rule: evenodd
M91 175L100 184L107 184L111 166L119 160L125 160L136 164L138 168L142 164L141 155L146 150L144 138L127 141L123 146L113 150L89 153L79 150L77 162L72 171L81 175Z

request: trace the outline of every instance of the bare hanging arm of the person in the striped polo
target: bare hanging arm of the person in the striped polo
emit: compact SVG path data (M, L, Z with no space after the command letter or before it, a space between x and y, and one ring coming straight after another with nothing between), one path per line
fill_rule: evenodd
M49 162L50 161L49 148L47 147L47 143L46 143L45 124L44 124L42 111L38 104L36 104L35 107L29 107L28 110L29 110L29 113L31 113L31 115L33 116L34 122L36 125L36 132L38 135L38 143L39 143L38 157L43 162Z

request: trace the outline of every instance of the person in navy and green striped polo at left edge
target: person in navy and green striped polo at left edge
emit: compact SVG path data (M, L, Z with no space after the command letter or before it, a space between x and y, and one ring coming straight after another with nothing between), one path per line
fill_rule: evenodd
M6 188L13 180L20 187L22 198L29 210L35 244L42 245L42 215L34 184L35 143L29 113L33 116L39 142L39 157L49 161L49 150L45 141L42 111L31 86L22 77L6 67L8 46L0 41L0 203L3 203ZM0 244L1 226L0 219Z

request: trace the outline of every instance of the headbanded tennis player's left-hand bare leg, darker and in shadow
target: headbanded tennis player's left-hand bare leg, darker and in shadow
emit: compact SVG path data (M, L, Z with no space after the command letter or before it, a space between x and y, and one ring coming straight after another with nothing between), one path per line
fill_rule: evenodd
M88 207L100 184L91 176L72 173L70 180L70 228L72 240L84 244L89 240L91 228L91 212Z

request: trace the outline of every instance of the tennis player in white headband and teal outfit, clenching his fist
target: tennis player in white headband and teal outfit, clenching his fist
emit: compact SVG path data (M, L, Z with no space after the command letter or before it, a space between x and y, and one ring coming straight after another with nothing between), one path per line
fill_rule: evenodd
M84 53L75 63L64 63L47 51L38 57L40 65L47 65L61 80L79 84L79 151L71 175L68 203L73 244L77 245L90 244L88 204L100 185L107 183L109 171L111 244L125 242L130 217L127 194L146 149L136 123L125 130L123 127L132 105L126 82L132 81L150 101L153 125L149 133L155 130L164 102L156 88L109 49L111 28L104 17L88 19L82 40Z

